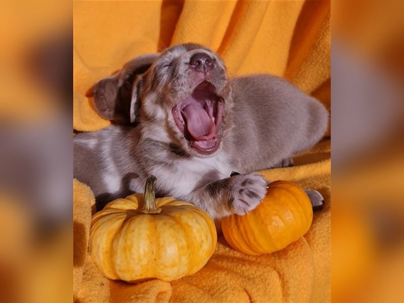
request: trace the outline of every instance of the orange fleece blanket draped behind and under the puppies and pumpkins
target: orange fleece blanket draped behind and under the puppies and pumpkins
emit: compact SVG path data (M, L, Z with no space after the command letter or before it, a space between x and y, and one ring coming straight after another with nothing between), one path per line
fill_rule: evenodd
M207 45L230 76L272 73L319 98L330 109L329 1L74 2L74 122L77 131L110 124L86 96L91 86L131 58L182 42ZM325 208L309 232L270 255L252 257L219 236L198 273L168 283L110 281L87 252L91 190L74 180L74 299L77 302L327 302L330 300L330 129L295 166L265 170L319 190Z

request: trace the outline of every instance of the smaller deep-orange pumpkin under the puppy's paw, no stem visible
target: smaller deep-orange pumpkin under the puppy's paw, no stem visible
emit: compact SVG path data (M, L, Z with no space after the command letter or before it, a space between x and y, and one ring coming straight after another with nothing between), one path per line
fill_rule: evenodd
M221 220L226 241L248 255L268 254L299 239L310 228L313 209L306 192L288 181L269 184L263 201L246 215Z

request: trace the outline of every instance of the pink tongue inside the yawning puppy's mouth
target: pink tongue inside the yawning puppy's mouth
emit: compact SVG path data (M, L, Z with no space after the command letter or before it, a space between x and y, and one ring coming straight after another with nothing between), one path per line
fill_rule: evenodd
M199 104L190 104L183 109L190 135L198 141L207 141L215 135L215 123Z

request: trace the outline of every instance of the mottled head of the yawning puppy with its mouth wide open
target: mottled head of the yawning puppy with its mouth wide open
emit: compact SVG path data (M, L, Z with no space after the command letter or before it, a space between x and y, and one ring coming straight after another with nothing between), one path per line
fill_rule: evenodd
M133 82L130 121L142 135L187 155L207 157L220 147L233 106L226 68L204 46L165 49Z

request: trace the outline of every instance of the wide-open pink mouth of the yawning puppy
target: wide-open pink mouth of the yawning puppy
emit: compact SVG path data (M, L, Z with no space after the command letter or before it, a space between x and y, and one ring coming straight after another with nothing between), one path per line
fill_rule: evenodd
M198 153L213 154L220 143L223 118L222 98L208 81L172 110L174 121L190 146Z

